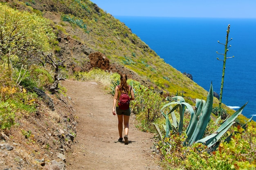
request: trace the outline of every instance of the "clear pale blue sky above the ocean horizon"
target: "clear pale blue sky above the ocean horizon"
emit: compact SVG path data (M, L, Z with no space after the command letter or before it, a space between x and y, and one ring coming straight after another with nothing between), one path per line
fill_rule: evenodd
M256 18L256 0L91 0L113 16Z

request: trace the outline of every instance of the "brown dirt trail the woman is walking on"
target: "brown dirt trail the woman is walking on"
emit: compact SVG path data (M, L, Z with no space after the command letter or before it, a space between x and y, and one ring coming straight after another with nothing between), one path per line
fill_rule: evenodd
M129 144L117 142L117 116L112 115L111 95L96 82L61 82L67 88L79 117L73 154L67 170L161 170L152 155L153 135L141 132L130 117ZM123 131L124 134L124 131Z

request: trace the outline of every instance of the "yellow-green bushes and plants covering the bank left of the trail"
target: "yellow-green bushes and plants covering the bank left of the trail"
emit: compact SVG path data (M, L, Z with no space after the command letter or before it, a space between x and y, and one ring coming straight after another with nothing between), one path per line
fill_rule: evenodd
M34 87L53 83L51 71L40 66L55 38L49 21L27 11L0 4L0 128L15 118L36 113Z

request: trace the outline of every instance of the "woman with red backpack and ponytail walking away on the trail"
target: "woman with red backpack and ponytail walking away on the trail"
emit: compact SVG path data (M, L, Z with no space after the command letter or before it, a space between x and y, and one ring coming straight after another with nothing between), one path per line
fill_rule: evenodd
M128 97L128 98L127 98ZM132 86L127 84L127 75L122 74L120 85L115 87L115 96L113 102L113 115L118 117L119 142L123 141L123 122L124 122L124 144L128 144L129 118L130 118L130 100L134 100ZM123 102L126 101L126 102ZM128 101L128 102L127 102Z

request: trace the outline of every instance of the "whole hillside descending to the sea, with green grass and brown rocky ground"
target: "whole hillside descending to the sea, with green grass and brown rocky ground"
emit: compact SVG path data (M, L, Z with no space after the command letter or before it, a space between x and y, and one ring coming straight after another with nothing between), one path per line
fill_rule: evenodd
M103 62L109 62L105 70L126 73L128 78L153 87L158 92L163 91L166 95L182 95L192 106L195 99L206 99L207 91L204 88L166 64L124 23L90 0L8 0L7 3L13 8L35 12L52 21L57 35L52 43L54 54L64 61L63 67L70 75L76 71L90 70L93 67L90 54L100 52L101 57L106 57ZM183 63L179 59L173 62ZM213 103L213 107L218 106L218 99L214 98ZM234 113L225 104L222 107L228 114ZM243 115L238 118L241 123L247 119Z

